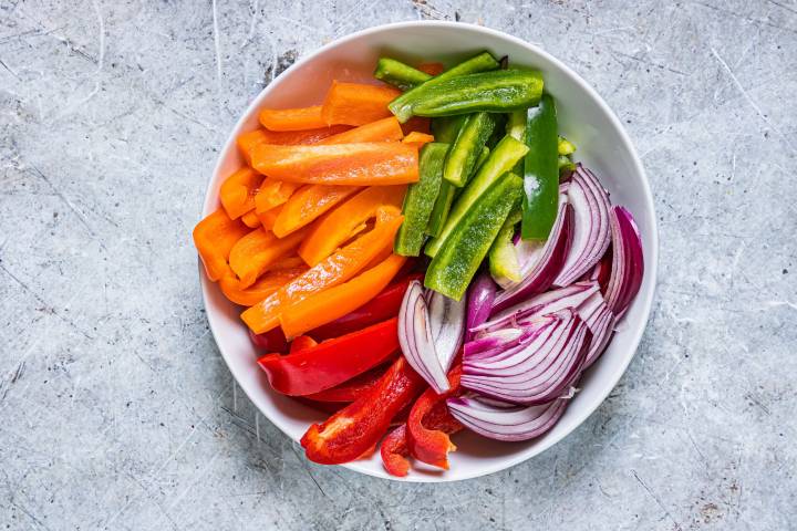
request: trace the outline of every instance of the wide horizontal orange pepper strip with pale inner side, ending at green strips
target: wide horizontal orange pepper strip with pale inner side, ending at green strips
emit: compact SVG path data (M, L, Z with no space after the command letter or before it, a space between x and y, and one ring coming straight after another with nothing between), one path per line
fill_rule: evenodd
M401 142L263 144L252 149L252 167L269 177L311 185L404 185L418 180L417 148Z

